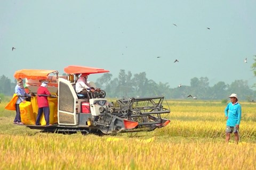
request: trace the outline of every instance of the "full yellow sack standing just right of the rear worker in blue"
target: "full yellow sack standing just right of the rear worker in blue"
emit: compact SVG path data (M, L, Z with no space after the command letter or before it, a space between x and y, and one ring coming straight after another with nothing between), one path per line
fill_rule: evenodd
M31 102L20 103L20 118L24 124L36 124Z

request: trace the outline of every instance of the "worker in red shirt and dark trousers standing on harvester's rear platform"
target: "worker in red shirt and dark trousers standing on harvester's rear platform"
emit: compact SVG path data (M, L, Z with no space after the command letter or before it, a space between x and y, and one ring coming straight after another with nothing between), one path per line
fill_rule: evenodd
M38 113L36 117L36 125L40 125L40 120L42 113L44 112L44 118L46 125L49 124L49 116L50 116L50 108L47 96L51 96L49 90L47 89L48 82L44 81L42 82L41 86L37 90L37 104L38 104Z

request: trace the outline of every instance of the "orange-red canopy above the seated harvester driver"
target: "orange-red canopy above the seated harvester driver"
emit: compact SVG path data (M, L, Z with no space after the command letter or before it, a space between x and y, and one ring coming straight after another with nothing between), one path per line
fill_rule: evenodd
M95 74L95 73L107 73L108 70L105 69L99 69L95 67L86 67L86 66L79 66L79 65L69 65L65 67L64 71L68 74L81 74L81 73L87 73L87 74Z

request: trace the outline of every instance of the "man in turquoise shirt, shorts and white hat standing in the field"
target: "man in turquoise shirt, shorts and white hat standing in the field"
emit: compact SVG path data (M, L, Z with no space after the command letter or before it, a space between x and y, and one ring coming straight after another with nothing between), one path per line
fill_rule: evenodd
M227 118L227 127L226 127L226 143L228 143L230 139L230 134L234 132L235 141L238 143L239 141L239 124L241 120L242 109L241 105L238 103L238 98L236 94L231 94L229 96L230 103L227 105L225 109L225 116Z

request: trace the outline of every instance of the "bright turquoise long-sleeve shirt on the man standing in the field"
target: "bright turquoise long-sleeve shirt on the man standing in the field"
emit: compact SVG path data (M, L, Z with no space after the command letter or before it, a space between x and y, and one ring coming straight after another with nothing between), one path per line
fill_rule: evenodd
M242 109L239 103L234 105L230 102L225 109L225 116L228 116L227 126L235 126L240 124Z

